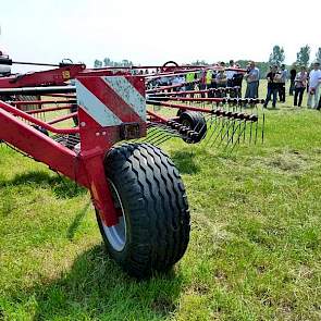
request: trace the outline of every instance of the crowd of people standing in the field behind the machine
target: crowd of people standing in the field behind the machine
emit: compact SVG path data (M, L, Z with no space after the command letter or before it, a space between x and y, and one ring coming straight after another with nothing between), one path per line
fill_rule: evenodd
M245 98L259 98L260 70L254 61L250 61L246 73L237 71L240 66L233 60L226 65L220 62L214 69L203 69L198 72L187 72L186 74L177 74L172 77L163 76L155 79L152 86L170 86L177 85L173 90L199 90L225 87L239 87L234 97L240 97L243 81L246 82ZM230 69L230 70L229 70ZM276 107L276 102L285 102L286 83L289 81L288 95L294 97L293 106L301 107L304 94L307 90L307 107L312 109L321 109L321 70L320 63L314 62L312 69L308 71L305 66L293 66L286 70L285 65L271 65L266 75L267 97L264 107L269 106L272 100L272 108ZM197 85L196 85L197 83ZM197 86L197 87L196 87ZM178 89L180 88L180 89ZM200 94L205 97L205 92ZM226 94L222 91L210 90L208 97L224 97Z

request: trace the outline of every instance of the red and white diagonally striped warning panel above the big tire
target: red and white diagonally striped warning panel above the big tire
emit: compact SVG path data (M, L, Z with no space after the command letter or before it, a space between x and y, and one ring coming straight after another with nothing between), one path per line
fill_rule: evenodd
M125 76L79 77L77 102L103 127L146 121L144 88Z

